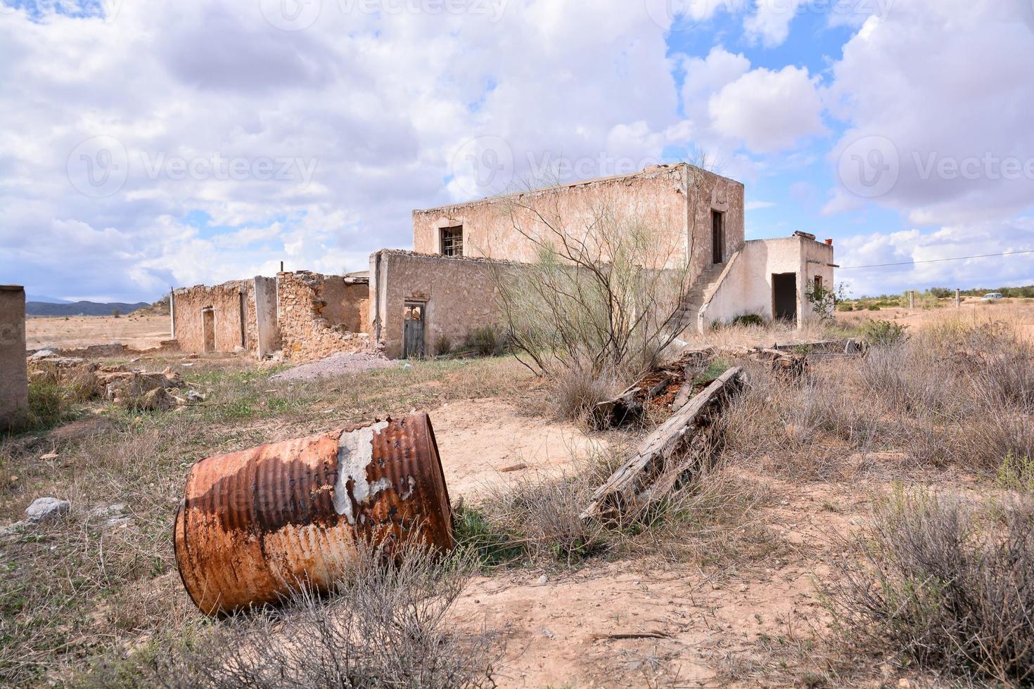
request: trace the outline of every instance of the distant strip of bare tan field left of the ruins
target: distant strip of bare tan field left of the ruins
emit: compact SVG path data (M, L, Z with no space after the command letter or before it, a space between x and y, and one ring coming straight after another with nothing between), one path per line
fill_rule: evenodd
M157 347L170 337L169 316L32 316L25 321L26 347L74 349L121 342L133 349Z

